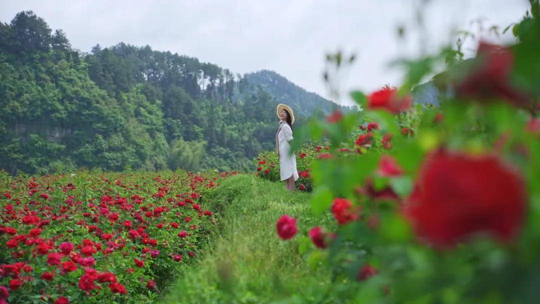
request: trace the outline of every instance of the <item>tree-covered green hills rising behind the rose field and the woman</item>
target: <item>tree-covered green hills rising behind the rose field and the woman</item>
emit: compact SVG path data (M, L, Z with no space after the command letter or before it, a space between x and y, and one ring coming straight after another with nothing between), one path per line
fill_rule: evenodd
M273 149L281 102L296 125L333 105L273 72L242 77L150 46L83 53L31 11L0 23L0 167L11 174L247 170Z

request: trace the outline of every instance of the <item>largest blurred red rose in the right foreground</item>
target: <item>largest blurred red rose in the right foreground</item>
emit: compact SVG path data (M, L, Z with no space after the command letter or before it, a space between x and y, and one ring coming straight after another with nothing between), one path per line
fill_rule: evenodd
M476 232L514 239L526 204L521 175L498 157L438 150L424 161L404 214L419 237L444 248Z

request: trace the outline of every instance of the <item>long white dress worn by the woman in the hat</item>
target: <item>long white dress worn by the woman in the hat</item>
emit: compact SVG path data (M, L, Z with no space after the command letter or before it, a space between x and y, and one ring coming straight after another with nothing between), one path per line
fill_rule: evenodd
M293 130L291 129L291 126L289 126L287 123L281 123L279 125L278 133L276 133L281 180L286 180L293 175L294 180L296 181L298 179L298 170L296 170L296 155L293 152L289 156L289 151L291 151L289 141L291 140L293 140Z

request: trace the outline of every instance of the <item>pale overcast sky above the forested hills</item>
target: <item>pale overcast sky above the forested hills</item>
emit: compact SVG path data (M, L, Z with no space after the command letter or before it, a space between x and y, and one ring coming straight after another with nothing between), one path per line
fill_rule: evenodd
M426 17L423 35L415 18L419 6ZM119 42L150 45L235 73L274 70L330 99L322 81L329 51L357 53L359 60L342 75L341 87L369 92L401 83L401 71L389 69L388 63L418 56L420 37L426 51L435 52L455 41L452 29L478 33L478 25L470 22L482 18L485 28L498 25L502 32L528 8L526 0L0 0L0 21L9 23L17 12L33 10L51 29L63 29L81 51ZM404 39L397 37L401 25ZM511 40L508 33L482 36L492 42ZM473 41L466 46L471 56ZM347 98L334 101L350 103Z

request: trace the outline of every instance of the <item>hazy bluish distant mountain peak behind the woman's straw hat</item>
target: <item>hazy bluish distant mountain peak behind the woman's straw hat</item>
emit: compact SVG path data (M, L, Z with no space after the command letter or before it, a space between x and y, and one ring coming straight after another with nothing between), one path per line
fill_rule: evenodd
M295 113L312 116L315 112L328 115L334 109L350 111L348 107L340 106L316 93L308 92L302 87L290 82L287 78L274 71L261 70L247 73L244 78L249 84L260 86L275 98L276 104L284 103L293 108Z

